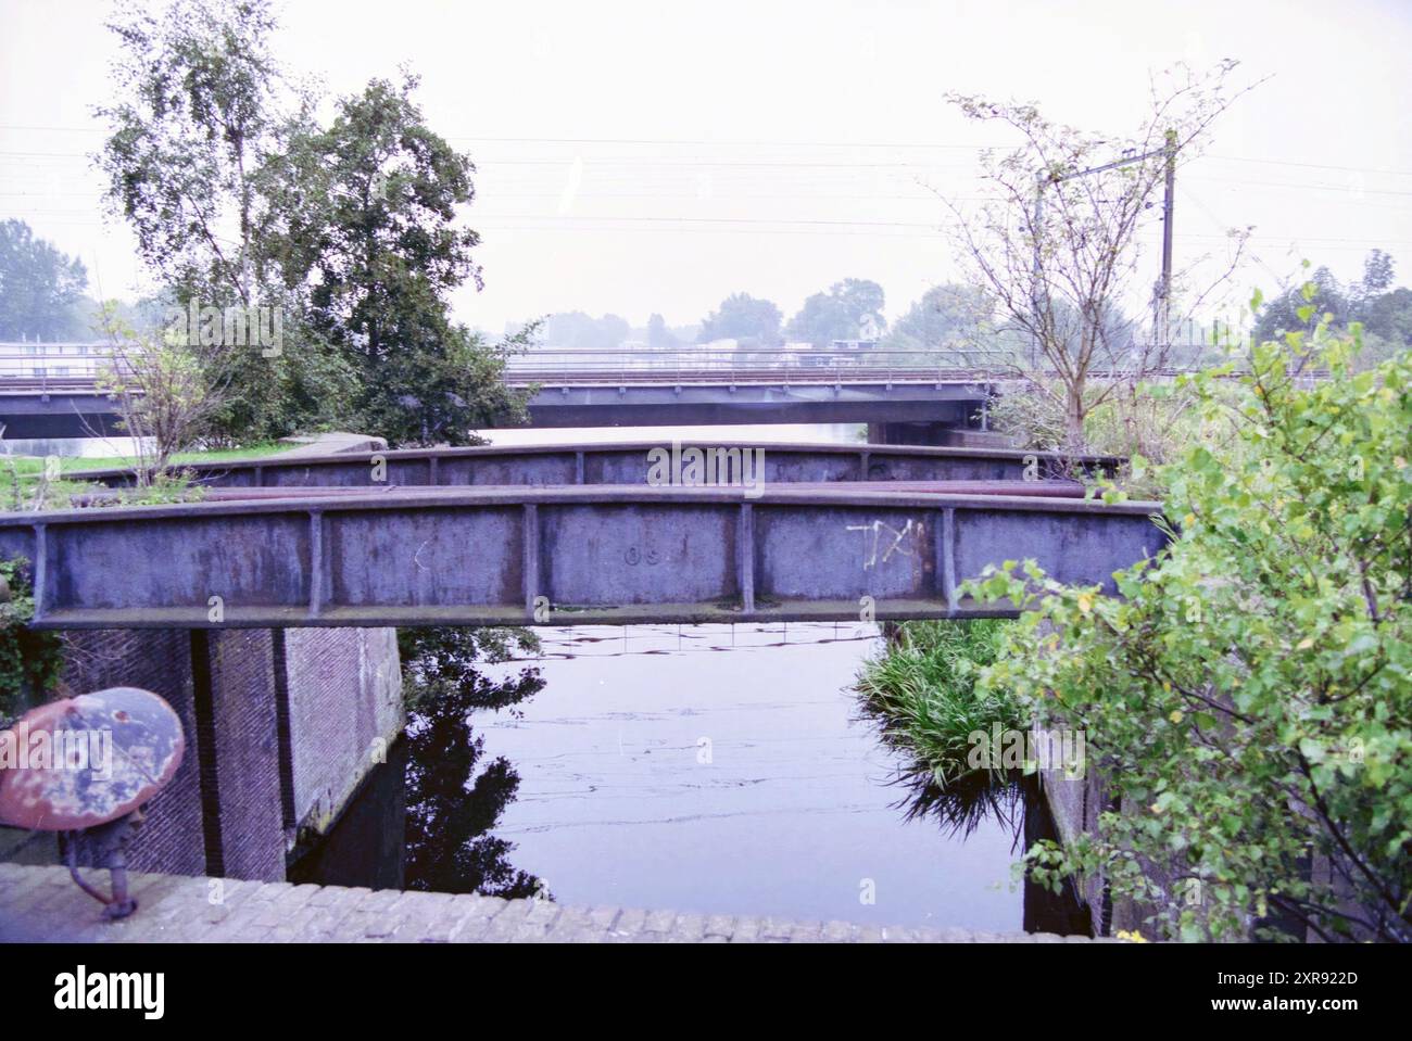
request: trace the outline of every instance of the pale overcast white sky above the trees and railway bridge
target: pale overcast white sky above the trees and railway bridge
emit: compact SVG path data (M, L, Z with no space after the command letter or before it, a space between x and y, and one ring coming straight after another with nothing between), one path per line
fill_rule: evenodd
M1412 3L923 0L289 0L278 52L333 93L409 63L433 130L479 168L486 289L460 319L558 310L698 322L746 291L788 317L873 278L895 317L956 275L928 186L974 193L997 138L947 90L1039 102L1123 133L1149 72L1243 62L1274 78L1183 166L1178 262L1255 226L1244 298L1302 257L1357 276L1382 247L1412 282ZM90 289L147 285L85 155L114 52L106 0L0 0L0 217L82 257ZM1155 268L1154 272L1155 275Z

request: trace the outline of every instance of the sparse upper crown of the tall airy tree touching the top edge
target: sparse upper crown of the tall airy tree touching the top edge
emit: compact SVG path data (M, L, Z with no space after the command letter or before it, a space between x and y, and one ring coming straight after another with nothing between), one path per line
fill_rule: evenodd
M172 0L161 17L124 0L109 28L116 99L95 114L112 126L97 157L112 206L181 302L254 303L260 171L297 123L284 110L311 103L275 65L270 0Z

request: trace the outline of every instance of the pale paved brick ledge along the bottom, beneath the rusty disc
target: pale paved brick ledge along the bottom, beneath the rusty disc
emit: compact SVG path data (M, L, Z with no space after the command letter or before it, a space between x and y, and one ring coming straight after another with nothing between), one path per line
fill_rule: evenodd
M106 890L107 872L85 872ZM562 907L548 900L130 876L137 913L104 921L64 868L0 863L8 942L1093 942L1049 932L969 932L772 917Z

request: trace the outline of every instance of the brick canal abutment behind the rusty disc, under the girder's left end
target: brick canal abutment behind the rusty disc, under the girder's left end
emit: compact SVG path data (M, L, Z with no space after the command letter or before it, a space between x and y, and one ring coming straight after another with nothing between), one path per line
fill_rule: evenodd
M394 629L68 633L65 695L141 687L171 702L186 753L148 805L134 870L277 882L297 825L326 832L402 729ZM51 860L51 836L0 858Z

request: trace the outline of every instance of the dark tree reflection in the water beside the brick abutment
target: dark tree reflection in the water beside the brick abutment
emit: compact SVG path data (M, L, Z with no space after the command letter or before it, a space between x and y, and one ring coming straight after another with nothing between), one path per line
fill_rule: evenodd
M524 629L404 629L398 632L407 698L407 889L548 897L542 883L510 863L514 844L496 827L520 789L504 757L484 757L470 717L507 710L544 687L537 667L494 681L480 666L532 653Z

